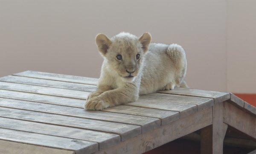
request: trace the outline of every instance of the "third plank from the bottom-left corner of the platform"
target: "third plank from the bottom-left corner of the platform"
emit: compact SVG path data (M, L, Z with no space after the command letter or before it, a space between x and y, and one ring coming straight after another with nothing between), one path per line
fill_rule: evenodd
M9 118L0 118L0 128L97 142L99 143L100 150L116 145L121 141L121 137L116 134L57 125L47 125L37 122L28 122Z

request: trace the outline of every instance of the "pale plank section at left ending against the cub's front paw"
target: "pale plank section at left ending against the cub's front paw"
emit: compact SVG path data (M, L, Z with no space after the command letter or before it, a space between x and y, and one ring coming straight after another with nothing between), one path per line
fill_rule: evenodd
M24 101L40 102L45 104L55 104L70 106L76 108L83 108L84 100L80 99L69 99L63 97L39 95L33 93L23 93L9 90L0 90L0 97L9 99L19 99Z

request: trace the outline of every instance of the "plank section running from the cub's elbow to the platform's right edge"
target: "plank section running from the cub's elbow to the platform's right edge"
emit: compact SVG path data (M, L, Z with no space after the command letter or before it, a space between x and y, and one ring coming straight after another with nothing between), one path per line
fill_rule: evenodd
M151 100L151 99L138 99L136 102L127 103L125 105L177 111L177 112L180 112L180 118L197 112L196 105L175 103L175 102L164 102L164 101L157 101L157 100Z

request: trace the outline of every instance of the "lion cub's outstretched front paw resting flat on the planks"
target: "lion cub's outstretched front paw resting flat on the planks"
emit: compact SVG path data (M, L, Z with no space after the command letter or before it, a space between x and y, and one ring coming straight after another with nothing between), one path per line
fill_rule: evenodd
M85 110L102 110L108 107L109 104L103 99L100 99L99 97L93 97L91 99L88 99L87 102L84 104Z

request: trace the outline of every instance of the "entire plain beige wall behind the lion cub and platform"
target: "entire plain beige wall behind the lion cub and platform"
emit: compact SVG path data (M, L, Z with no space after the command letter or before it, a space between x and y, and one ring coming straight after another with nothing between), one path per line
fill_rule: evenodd
M239 12L234 7L243 2L0 0L0 76L38 70L99 77L102 58L94 42L97 33L111 37L122 31L135 35L150 32L153 42L177 43L184 47L188 59L186 81L190 87L255 93L248 81L255 81L256 73L244 68L255 69L253 26L256 27L256 23L254 20L250 21L254 25L243 26L236 21L235 14ZM244 12L246 6L239 8L243 12L239 20L243 22L247 17L254 17L247 14L256 13L255 2L247 2L251 5L249 12ZM245 38L250 35L248 40L239 37L241 32L234 34L248 27L250 30L243 33ZM241 50L233 46L237 41L248 45L244 45L243 50L250 53L251 62L247 61L247 55L240 58ZM234 64L232 59L239 64Z

